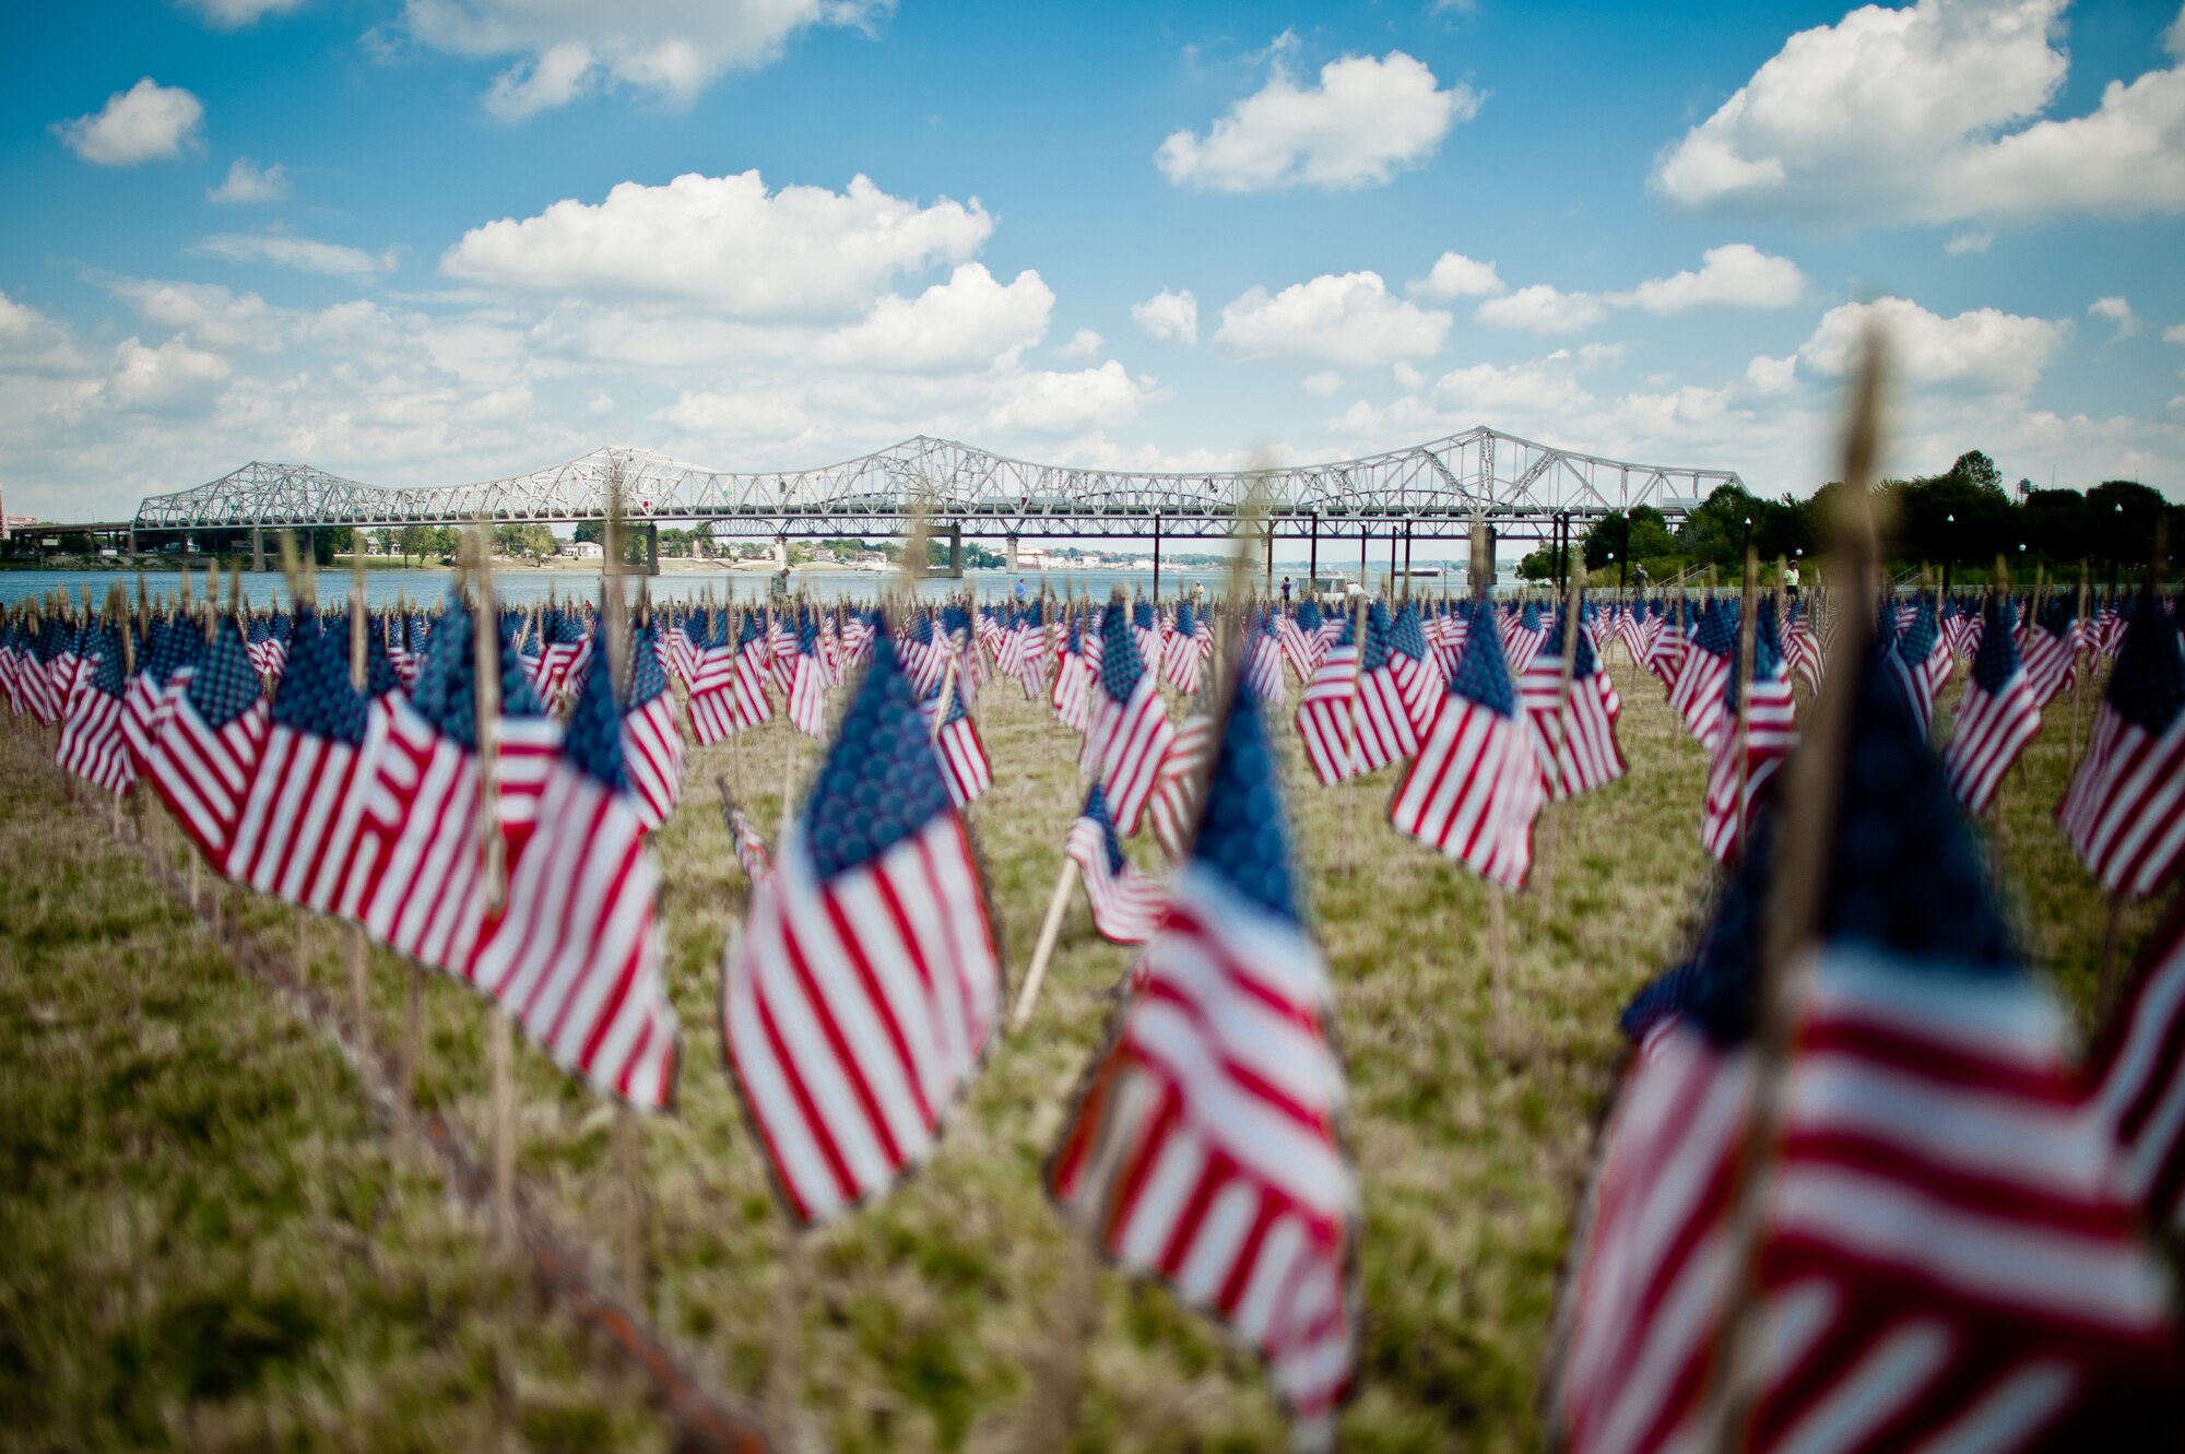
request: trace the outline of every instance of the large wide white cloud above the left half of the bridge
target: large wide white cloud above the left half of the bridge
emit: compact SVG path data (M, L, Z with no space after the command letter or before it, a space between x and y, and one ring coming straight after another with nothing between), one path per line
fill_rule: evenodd
M841 314L894 277L968 262L994 231L977 199L920 207L867 177L767 192L756 170L623 181L601 203L472 227L439 266L516 293L699 303L736 317Z

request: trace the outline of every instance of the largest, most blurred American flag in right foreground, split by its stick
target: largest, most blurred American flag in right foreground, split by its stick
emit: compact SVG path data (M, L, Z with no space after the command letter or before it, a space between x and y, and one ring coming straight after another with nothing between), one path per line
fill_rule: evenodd
M1571 1454L1698 1447L1733 1279L1761 1319L1746 1450L2076 1450L2154 1417L2172 1319L1886 672L1853 707L1809 993L1752 1260L1733 1203L1755 1085L1772 836L1689 965L1626 1013L1639 1044L1580 1214L1551 1380ZM2174 1423L2170 1426L2174 1428Z

